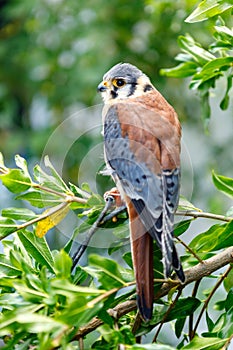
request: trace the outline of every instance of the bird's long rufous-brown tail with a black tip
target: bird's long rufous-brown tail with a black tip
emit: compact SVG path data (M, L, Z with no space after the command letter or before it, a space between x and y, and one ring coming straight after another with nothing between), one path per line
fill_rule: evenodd
M128 204L131 251L136 278L137 304L142 318L150 320L153 313L153 238L142 224L132 203Z

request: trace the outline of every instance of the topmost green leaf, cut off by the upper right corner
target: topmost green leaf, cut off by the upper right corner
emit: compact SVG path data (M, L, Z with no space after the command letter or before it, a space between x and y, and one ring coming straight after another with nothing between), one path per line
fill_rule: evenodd
M189 15L185 22L195 23L205 21L208 18L219 15L220 13L233 7L229 1L204 0Z

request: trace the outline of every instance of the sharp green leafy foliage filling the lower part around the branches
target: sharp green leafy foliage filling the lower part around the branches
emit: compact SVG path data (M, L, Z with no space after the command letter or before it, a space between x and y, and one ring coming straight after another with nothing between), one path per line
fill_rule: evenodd
M131 327L135 320L135 306L131 312L127 312L126 306L122 317L118 319L116 316L114 320L114 313L111 314L109 310L124 305L135 293L131 287L134 286L134 277L128 253L123 256L128 264L127 268L110 257L91 254L88 266L78 265L74 269L69 254L75 234L83 228L76 230L60 251L51 251L44 238L44 234L58 224L68 210L76 211L83 218L81 226L85 226L86 230L92 227L103 210L104 201L98 195L86 192L86 185L83 186L85 190L73 184L66 185L47 157L45 165L49 172L37 165L33 176L28 171L25 159L17 155L15 160L18 168L9 169L2 157L0 178L8 190L16 194L16 199L28 201L31 209L3 209L0 220L0 235L4 245L4 254L0 256L0 335L5 341L5 349L17 349L19 343L22 349L32 346L41 350L56 347L67 349L68 346L75 349L75 342L80 338L80 329L85 329L93 322L94 317L101 322L94 338L89 332L96 327L86 331L86 348L93 346L95 349L116 349L118 344L124 344L127 349L171 349L165 344L136 345L136 337L145 335L166 322L174 323L175 334L180 338L180 349L212 349L213 344L214 349L220 349L229 342L233 317L232 274L224 276L225 299L216 304L220 311L215 323L208 316L207 299L203 301L194 294L177 299L175 295L179 289L176 284L172 286L167 298L156 301L152 320L149 323L141 322L133 333ZM232 180L216 174L214 176L215 181L218 179L221 183L221 188L219 182L217 187L223 191L227 188L229 195L229 191L233 191ZM38 214L36 208L42 208L42 212ZM64 208L67 209L65 212ZM196 216L200 213L183 198L179 210L183 213L187 210L190 213L194 211ZM55 216L55 213L58 215ZM119 225L121 227L124 222L127 225L126 217L122 218L114 221L110 219L102 225L115 228ZM182 257L184 267L192 267L198 263L193 252L199 258L206 259L219 250L232 246L232 222L213 225L208 232L198 234L190 243L191 250L186 250ZM180 222L175 229L175 235L182 235L190 224L190 220ZM14 232L17 232L14 239L7 240ZM125 241L127 235L125 231L118 236L119 245L114 251L121 250L120 243ZM212 245L209 244L210 241L213 242ZM156 290L161 287L160 265L157 260ZM223 282L221 275L218 276L217 273L213 273L212 277ZM206 293L208 298L215 288L216 285L212 290L202 290L202 293ZM182 288L180 293L181 291ZM195 313L200 313L198 310L201 306L206 310L207 332L193 337L189 330L189 342L185 324Z

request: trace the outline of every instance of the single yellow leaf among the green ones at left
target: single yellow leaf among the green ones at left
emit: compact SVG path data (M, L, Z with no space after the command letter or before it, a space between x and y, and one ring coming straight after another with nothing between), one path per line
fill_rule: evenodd
M39 238L44 235L54 226L59 224L67 215L70 203L61 203L56 207L46 209L41 215L41 220L38 222L36 227L36 236Z

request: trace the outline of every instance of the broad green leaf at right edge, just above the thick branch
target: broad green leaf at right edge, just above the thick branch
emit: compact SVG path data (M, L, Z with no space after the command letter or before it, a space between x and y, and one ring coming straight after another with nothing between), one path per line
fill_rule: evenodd
M216 224L196 236L189 244L195 252L212 252L233 245L233 220L226 224Z

